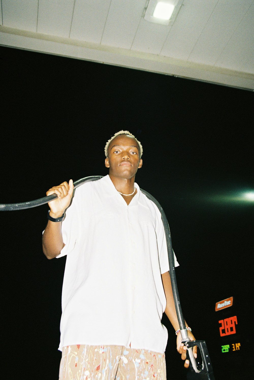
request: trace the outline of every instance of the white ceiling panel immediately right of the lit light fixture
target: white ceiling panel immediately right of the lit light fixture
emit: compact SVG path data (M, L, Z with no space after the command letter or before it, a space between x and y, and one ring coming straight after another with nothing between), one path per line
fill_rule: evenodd
M161 55L188 59L218 0L188 0L180 8Z

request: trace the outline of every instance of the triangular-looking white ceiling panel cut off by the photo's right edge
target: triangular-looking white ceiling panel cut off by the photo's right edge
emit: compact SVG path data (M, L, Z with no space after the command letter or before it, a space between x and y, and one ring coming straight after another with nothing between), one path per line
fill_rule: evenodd
M251 30L252 33L250 33ZM254 73L254 3L248 9L215 66Z

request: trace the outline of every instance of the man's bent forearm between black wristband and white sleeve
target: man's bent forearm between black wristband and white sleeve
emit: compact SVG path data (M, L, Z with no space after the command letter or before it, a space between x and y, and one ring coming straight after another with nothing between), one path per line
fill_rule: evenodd
M64 247L61 224L61 222L49 220L42 235L42 249L48 259L58 256Z

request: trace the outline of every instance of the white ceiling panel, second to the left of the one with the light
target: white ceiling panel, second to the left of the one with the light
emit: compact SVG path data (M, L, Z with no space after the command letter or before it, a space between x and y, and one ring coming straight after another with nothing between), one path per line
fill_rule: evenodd
M100 43L109 7L110 0L76 0L70 37Z

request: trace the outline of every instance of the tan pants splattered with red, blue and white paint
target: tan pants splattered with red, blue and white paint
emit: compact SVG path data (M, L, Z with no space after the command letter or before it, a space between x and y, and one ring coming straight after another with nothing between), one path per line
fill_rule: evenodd
M123 346L63 347L59 380L166 380L165 354Z

